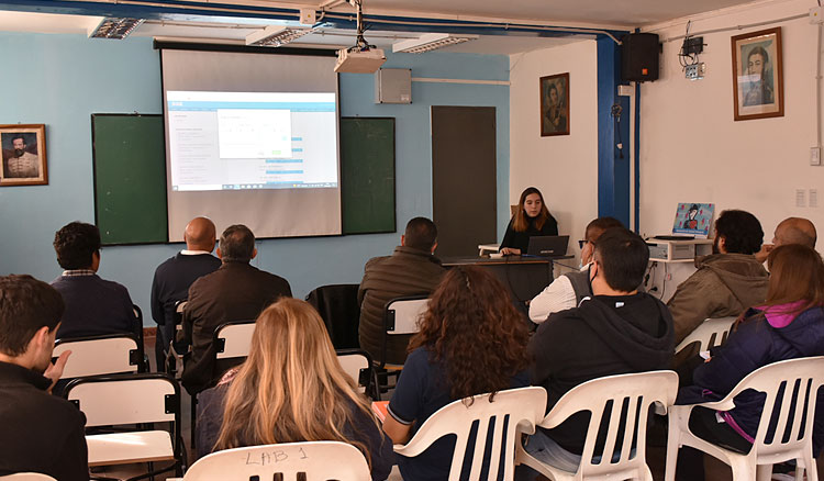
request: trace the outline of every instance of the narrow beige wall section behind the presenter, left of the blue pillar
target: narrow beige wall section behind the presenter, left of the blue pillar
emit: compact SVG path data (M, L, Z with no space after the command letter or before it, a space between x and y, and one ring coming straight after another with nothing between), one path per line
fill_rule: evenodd
M564 72L570 135L542 137L538 79ZM560 234L570 236L570 253L598 215L597 89L594 41L510 56L510 200L517 203L526 187L541 189Z

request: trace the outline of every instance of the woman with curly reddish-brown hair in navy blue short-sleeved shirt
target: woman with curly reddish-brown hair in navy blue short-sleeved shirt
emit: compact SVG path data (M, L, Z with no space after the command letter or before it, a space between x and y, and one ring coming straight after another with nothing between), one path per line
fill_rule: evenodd
M528 385L526 323L501 292L501 282L478 267L449 270L433 292L383 422L396 444L409 441L424 421L453 401L468 404L476 394ZM398 456L403 479L447 479L454 446L455 438L447 436L414 458ZM464 466L461 479L469 476L469 459Z

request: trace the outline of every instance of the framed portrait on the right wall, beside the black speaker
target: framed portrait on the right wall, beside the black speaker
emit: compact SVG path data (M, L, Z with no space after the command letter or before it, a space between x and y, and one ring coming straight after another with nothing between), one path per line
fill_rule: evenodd
M783 116L781 27L736 35L732 42L735 120Z

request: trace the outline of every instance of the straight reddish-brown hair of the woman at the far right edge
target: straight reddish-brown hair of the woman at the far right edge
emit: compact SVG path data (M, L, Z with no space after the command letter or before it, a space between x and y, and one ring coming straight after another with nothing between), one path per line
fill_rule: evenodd
M776 247L767 258L770 283L765 305L804 301L788 314L824 305L824 262L814 249L800 244Z

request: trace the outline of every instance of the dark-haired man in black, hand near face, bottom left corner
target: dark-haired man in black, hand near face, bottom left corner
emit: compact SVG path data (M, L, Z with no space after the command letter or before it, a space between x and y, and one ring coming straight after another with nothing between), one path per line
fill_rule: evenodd
M52 365L64 304L31 276L0 277L0 476L42 472L88 481L86 417L49 394L69 357Z

